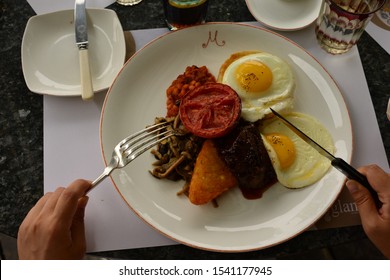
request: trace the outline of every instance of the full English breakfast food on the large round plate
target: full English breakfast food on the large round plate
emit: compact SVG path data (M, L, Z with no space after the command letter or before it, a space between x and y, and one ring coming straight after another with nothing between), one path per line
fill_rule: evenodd
M191 203L216 202L239 187L247 199L260 198L280 182L309 186L330 162L306 145L278 119L281 112L314 140L334 152L330 133L314 117L294 112L295 79L288 63L261 51L232 54L217 79L206 66L188 66L166 90L167 129L180 133L152 150L151 174L184 180L180 194Z

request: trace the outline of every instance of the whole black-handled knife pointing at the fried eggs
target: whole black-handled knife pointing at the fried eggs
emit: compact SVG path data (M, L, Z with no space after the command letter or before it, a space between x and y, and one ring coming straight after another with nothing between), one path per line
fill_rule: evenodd
M279 119L283 121L283 123L290 128L296 135L298 135L302 140L304 140L307 144L309 144L311 147L313 147L316 151L318 151L322 156L326 157L330 160L333 167L335 167L337 170L342 172L347 178L355 180L362 184L368 191L371 193L372 197L374 198L375 204L378 208L382 206L382 203L380 202L378 198L378 193L372 188L370 183L368 182L366 176L364 176L362 173L357 171L354 167L352 167L350 164L348 164L346 161L344 161L342 158L335 157L332 155L328 150L326 150L324 147L322 147L320 144L318 144L316 141L314 141L312 138L310 138L307 134L305 134L303 131L301 131L299 128L297 128L295 125L293 125L290 121L288 121L286 118L284 118L282 115L280 115L278 112L270 108L272 113L277 116Z

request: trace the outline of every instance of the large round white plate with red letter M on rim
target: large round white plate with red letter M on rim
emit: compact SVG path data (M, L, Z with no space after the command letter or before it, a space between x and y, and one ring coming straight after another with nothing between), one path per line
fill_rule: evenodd
M312 56L269 30L209 23L161 36L125 64L108 91L101 115L101 148L106 164L121 139L152 124L156 116L165 116L165 90L187 66L206 65L217 75L232 53L243 50L273 53L292 67L295 110L317 118L333 136L336 156L350 161L348 110L339 88ZM148 170L154 161L146 152L114 171L112 179L118 192L157 231L180 243L212 251L256 250L298 235L327 211L345 180L340 172L330 169L310 187L291 190L277 183L257 200L243 198L236 188L222 195L219 207L214 208L211 203L195 206L186 197L177 196L182 181L152 177Z

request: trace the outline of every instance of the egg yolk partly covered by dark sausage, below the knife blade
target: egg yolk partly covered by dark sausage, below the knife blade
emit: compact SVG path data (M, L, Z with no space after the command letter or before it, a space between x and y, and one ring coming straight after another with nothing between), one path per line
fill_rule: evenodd
M286 135L273 133L265 136L274 149L281 169L286 169L295 161L294 143Z

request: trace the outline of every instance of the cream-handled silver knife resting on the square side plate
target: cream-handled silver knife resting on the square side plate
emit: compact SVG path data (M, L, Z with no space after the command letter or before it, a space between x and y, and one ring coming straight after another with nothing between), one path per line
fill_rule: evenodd
M81 97L83 100L93 98L93 87L88 55L88 28L85 11L85 0L76 0L74 7L74 24L76 45L79 49Z

